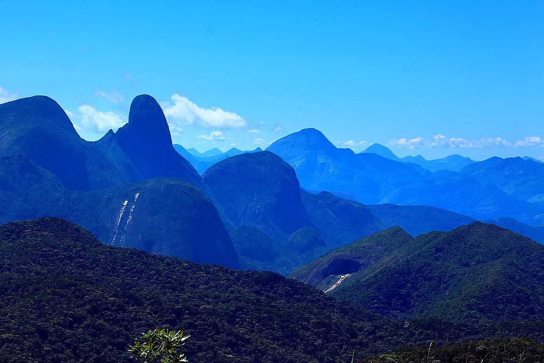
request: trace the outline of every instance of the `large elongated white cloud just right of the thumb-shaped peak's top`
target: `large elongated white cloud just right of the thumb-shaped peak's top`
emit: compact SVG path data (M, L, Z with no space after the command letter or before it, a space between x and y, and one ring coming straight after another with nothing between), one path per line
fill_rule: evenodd
M191 125L194 122L207 128L241 128L248 125L242 116L219 107L202 108L178 94L172 95L171 100L173 104L161 102L160 107L168 121L174 125Z

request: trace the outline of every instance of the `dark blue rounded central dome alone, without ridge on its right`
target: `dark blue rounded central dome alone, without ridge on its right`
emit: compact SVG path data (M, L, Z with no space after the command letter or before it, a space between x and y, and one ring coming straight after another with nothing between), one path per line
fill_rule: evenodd
M202 177L236 226L253 225L271 238L286 239L310 225L293 168L271 152L227 158Z

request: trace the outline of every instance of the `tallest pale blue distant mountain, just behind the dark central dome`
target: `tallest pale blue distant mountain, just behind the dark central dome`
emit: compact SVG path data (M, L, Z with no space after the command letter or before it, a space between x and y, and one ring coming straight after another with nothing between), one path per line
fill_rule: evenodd
M355 154L351 149L337 149L314 128L283 137L267 151L292 165L302 187L347 192L365 204L376 204L393 190L424 179L406 163L374 153Z

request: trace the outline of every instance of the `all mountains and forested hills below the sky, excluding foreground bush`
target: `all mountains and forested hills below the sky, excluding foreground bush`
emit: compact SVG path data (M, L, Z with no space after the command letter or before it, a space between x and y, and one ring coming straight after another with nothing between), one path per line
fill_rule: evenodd
M128 361L159 325L187 329L201 362L544 339L535 159L355 153L315 129L199 153L149 95L94 142L46 96L0 104L0 130L9 361Z

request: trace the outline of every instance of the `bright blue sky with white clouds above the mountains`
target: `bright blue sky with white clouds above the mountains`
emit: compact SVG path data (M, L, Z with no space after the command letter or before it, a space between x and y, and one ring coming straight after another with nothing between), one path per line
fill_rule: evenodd
M544 158L541 1L21 1L0 34L0 102L51 96L89 140L147 93L200 151L315 127L355 151Z

